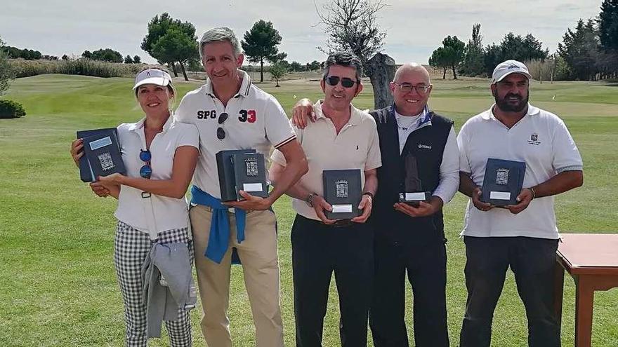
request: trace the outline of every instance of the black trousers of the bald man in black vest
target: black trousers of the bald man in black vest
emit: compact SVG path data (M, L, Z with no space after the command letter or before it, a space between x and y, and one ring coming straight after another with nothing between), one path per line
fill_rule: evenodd
M449 346L447 255L442 239L422 247L378 243L374 251L374 299L369 312L376 347L407 347L405 271L414 293L416 347Z

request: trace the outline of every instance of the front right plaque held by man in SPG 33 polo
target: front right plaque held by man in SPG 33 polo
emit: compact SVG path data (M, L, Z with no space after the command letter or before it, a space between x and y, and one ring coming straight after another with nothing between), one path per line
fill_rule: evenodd
M237 153L232 155L234 177L238 200L244 198L238 191L246 191L252 196L268 198L264 155L261 153Z

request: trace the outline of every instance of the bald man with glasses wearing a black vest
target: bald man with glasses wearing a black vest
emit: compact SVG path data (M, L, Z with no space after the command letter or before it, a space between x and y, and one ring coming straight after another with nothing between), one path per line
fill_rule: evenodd
M424 67L404 64L390 82L395 104L369 112L376 118L382 155L371 221L376 273L369 322L376 347L409 346L406 271L414 293L415 345L449 346L442 205L459 186L459 149L453 122L427 107L431 88ZM299 128L310 113L307 105L301 100L294 109ZM432 192L418 207L398 202L405 191L407 156L416 158L423 191Z

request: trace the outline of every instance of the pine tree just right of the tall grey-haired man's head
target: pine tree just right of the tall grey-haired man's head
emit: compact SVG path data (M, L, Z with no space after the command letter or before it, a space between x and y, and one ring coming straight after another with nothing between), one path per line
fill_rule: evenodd
M260 63L260 82L264 81L264 60L275 63L284 60L286 53L279 53L281 35L272 26L272 22L258 20L251 29L244 33L241 41L244 55L249 62Z

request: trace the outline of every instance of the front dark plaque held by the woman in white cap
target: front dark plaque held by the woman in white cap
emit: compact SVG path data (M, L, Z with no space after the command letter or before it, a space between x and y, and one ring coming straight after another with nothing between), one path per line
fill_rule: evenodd
M93 182L99 176L126 173L116 132L92 135L83 139L84 156L91 175L91 181L86 182Z

